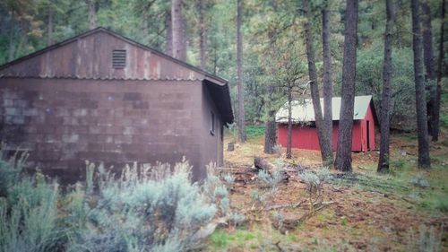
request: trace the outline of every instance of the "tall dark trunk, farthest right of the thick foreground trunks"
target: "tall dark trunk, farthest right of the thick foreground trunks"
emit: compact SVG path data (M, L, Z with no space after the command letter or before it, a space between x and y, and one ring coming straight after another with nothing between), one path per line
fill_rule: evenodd
M419 19L418 0L411 0L412 48L414 50L414 77L416 82L416 110L418 131L418 168L429 169L429 143L427 140L425 82L423 79L423 46Z

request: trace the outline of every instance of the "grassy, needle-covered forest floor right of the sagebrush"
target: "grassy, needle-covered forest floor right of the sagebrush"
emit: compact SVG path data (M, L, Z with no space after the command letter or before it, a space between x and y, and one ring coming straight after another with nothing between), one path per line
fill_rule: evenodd
M227 134L224 146L233 139ZM445 136L431 143L433 168L428 171L417 169L417 139L409 134L392 135L390 174L376 174L378 151L353 153L353 174L339 177L331 170L323 203L315 205L314 213L296 171L319 169L320 152L293 150L293 158L286 160L281 154L264 154L263 141L263 133L250 135L235 151L224 151L223 170L236 177L230 205L246 215L246 222L215 230L206 250L421 251L433 246L448 251ZM256 173L247 172L258 156L283 161L289 181L280 182L276 191L266 188ZM263 203L255 195L264 197Z

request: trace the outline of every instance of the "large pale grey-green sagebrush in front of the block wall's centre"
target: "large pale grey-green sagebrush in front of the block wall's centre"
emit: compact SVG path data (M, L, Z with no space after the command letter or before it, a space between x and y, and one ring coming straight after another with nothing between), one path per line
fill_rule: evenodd
M190 169L183 161L172 173L166 165L142 166L139 176L134 164L126 167L118 179L103 174L97 202L84 208L87 225L73 234L67 251L189 248L197 242L194 234L217 213L202 187L190 180ZM228 208L222 201L220 207ZM80 208L75 209L80 215Z

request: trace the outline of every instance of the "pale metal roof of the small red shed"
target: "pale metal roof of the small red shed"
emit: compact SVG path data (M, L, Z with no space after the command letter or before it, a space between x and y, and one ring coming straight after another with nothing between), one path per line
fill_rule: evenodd
M355 96L354 120L361 120L366 117L367 108L371 100L371 95ZM314 122L314 107L311 99L293 100L291 107L293 123ZM321 99L321 107L323 109L323 99ZM340 97L332 98L332 117L333 121L339 121L340 119ZM288 101L277 111L275 121L288 123Z

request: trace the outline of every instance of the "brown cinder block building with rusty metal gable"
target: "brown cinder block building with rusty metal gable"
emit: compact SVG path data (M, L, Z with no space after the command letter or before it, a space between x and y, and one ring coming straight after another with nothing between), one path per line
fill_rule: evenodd
M63 182L85 161L222 164L228 82L98 28L0 66L0 138Z

